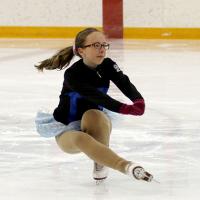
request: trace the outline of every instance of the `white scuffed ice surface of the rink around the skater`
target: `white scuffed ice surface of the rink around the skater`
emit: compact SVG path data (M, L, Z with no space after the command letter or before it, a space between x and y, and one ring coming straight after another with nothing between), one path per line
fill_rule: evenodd
M110 169L100 185L84 154L65 154L35 130L36 112L57 106L64 70L39 73L34 64L71 43L0 40L0 199L199 199L200 41L111 41L108 56L142 93L146 112L115 115L110 147L160 184ZM114 85L110 95L129 102Z

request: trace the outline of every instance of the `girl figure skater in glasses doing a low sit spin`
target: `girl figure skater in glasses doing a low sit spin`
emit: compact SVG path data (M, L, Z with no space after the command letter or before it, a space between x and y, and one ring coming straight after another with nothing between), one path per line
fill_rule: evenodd
M94 161L93 178L107 178L108 167L138 180L150 182L153 176L140 165L127 161L109 148L112 124L103 108L126 115L142 115L145 103L136 87L117 64L105 58L109 44L105 35L95 28L79 32L74 46L67 47L35 67L66 68L74 55L80 57L64 73L60 101L53 116L38 113L36 127L45 137L55 136L66 153L84 152ZM107 95L110 80L127 96L132 105Z

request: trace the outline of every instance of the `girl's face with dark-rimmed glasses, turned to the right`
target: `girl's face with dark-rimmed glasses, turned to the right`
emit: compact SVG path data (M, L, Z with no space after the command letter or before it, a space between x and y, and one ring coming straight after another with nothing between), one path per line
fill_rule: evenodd
M103 62L108 48L104 34L93 32L86 37L84 47L78 48L78 52L87 66L96 68Z

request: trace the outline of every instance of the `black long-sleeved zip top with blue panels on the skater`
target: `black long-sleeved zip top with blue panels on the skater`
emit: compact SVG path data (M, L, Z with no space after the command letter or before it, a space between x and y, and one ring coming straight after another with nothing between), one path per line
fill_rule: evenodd
M60 102L53 113L55 120L67 125L80 120L89 109L107 108L119 112L122 103L107 95L110 80L131 101L143 98L110 58L105 58L95 69L80 59L65 71Z

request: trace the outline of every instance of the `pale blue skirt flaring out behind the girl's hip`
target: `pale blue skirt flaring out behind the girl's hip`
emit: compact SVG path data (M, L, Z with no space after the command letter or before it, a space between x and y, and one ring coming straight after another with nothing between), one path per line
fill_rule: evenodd
M39 111L37 113L36 119L35 119L36 129L37 132L42 137L55 137L57 135L62 134L65 131L70 130L81 130L81 121L74 121L69 123L68 125L62 124L60 122L57 122L53 114L47 113L44 111Z

